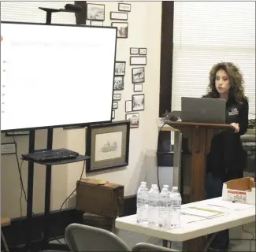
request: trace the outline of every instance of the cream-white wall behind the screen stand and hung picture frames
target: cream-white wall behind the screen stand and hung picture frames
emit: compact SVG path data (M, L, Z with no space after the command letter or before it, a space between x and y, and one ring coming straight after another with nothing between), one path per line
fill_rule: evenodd
M99 3L99 2L98 2ZM102 2L106 5L106 20L104 25L110 25L109 12L118 10L117 2ZM131 2L132 11L128 13L128 39L117 39L117 61L126 61L124 77L124 91L118 102L115 120L125 119L125 100L132 98L132 66L129 65L130 47L147 47L147 65L143 94L145 94L145 110L139 112L139 128L131 129L129 165L121 169L98 172L91 177L109 180L124 185L124 195L135 195L139 182L148 179L147 171L156 178L155 154L158 141L158 109L159 109L159 81L160 81L160 44L161 44L161 2ZM154 17L154 19L152 18ZM86 110L83 109L84 113ZM84 129L63 130L54 129L54 148L65 147L70 150L85 152L86 131ZM18 156L28 152L28 136L16 138ZM2 134L2 143L12 141ZM36 148L46 146L46 131L36 134ZM60 209L62 202L76 187L82 171L82 162L69 165L56 165L52 168L51 209ZM154 170L154 171L153 171ZM28 164L24 161L22 176L24 186L27 187ZM1 157L1 196L2 216L20 216L20 180L15 155ZM45 166L35 165L34 180L34 213L42 213L44 206ZM85 177L85 174L83 174ZM70 200L68 206L73 206ZM22 200L23 215L26 203Z

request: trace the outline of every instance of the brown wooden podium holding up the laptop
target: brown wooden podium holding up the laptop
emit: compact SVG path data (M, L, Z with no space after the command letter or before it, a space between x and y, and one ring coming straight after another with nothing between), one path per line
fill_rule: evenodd
M206 158L210 152L213 135L232 129L230 124L204 124L181 121L165 121L172 128L179 130L188 139L191 153L191 194L190 202L205 199ZM203 251L206 239L192 239L187 243L187 250Z

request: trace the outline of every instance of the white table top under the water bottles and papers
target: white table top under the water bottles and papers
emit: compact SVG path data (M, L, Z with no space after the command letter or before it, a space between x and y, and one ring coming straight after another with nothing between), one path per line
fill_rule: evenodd
M222 201L221 198L213 198L216 201ZM182 205L182 208L188 206L206 206L213 202L211 199L193 202ZM225 204L236 204L225 202ZM234 206L234 205L233 205ZM248 206L248 205L247 205ZM173 242L183 242L188 239L194 239L203 235L219 232L224 229L234 228L255 221L255 206L248 206L247 209L225 209L227 213L218 217L201 218L200 221L191 221L193 217L181 215L181 228L173 230L161 230L161 228L150 228L136 223L136 215L120 217L116 220L116 228L130 232L142 233L159 239L166 239ZM198 217L194 217L198 219ZM191 221L190 223L187 223Z

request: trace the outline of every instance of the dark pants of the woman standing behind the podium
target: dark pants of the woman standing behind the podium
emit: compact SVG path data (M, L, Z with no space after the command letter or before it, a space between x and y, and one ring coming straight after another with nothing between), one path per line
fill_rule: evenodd
M225 181L235 180L243 177L243 171L228 172L224 177L213 176L210 172L206 174L207 198L217 198L222 195L222 186ZM213 249L225 250L229 246L228 229L218 232L210 245Z

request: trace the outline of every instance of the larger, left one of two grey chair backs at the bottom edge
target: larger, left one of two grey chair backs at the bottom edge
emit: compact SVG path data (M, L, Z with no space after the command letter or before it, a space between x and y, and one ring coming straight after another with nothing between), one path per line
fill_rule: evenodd
M83 224L70 224L65 239L71 252L131 251L124 241L112 232Z

